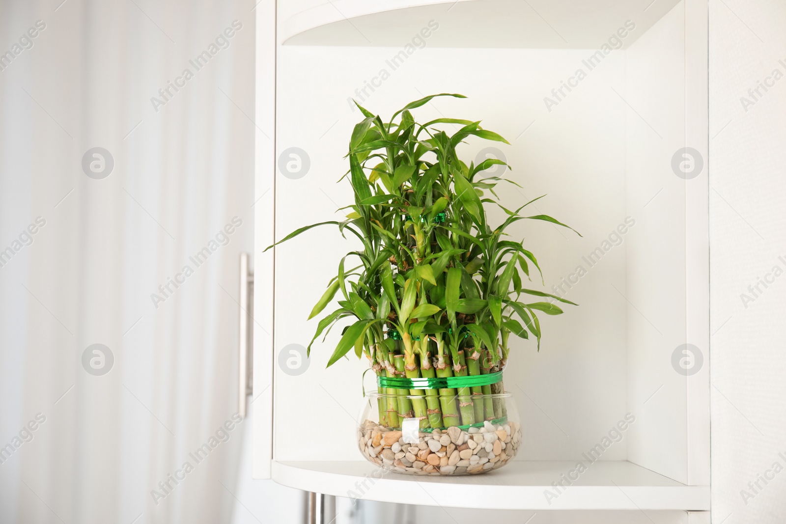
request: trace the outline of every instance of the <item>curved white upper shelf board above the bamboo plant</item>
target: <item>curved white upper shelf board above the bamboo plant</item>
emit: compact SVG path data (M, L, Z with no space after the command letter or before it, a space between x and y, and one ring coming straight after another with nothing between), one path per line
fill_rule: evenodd
M622 41L630 46L677 3L332 0L288 16L279 31L281 42L299 46L402 47L426 28L430 47L599 49L626 20L635 24ZM436 31L428 30L431 20Z

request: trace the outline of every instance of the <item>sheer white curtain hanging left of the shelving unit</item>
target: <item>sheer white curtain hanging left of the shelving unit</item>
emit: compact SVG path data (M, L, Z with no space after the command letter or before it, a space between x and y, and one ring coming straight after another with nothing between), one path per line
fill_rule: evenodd
M0 3L0 522L231 519L253 7Z

